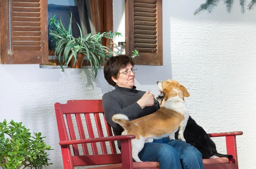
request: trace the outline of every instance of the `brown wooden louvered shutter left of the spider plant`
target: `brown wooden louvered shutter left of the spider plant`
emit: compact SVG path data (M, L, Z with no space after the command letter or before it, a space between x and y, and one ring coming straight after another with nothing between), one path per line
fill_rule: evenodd
M3 2L3 0L1 1ZM6 3L6 6L9 5ZM6 40L6 64L31 64L48 62L47 0L12 0L11 38ZM9 9L9 8L7 8ZM8 10L7 10L8 11ZM6 17L9 18L9 12ZM9 28L9 21L6 24ZM9 29L6 32L9 34Z

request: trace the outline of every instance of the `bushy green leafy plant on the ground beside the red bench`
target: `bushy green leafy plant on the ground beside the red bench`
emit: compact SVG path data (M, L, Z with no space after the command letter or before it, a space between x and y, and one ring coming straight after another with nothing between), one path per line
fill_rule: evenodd
M34 135L21 122L3 120L0 123L0 165L3 169L42 169L52 164L48 163L45 152L51 150L51 146L44 143L40 132Z

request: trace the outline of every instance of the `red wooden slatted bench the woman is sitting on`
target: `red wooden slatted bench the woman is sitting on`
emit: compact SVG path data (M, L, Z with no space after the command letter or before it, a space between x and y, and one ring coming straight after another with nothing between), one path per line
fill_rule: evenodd
M55 113L64 169L74 169L74 166L97 166L97 169L159 169L157 162L132 162L131 139L135 136L113 136L111 127L103 117L102 100L68 100L67 104L55 103ZM209 134L210 137L226 137L227 154L233 155L233 158L203 159L204 168L238 169L236 135L242 134L243 132ZM121 140L122 153L116 152L115 140ZM98 166L106 164L110 165Z

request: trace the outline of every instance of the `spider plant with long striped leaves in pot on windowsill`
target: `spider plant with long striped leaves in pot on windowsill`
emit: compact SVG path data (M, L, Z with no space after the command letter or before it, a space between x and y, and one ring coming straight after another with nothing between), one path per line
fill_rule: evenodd
M66 30L60 20L55 19L55 15L50 19L49 35L55 40L55 56L58 56L58 61L60 63L62 71L64 71L63 65L67 65L71 62L71 67L76 66L76 64L81 68L81 64L84 56L87 57L88 62L95 71L95 77L97 75L97 69L100 68L106 58L112 57L113 52L106 46L102 45L102 37L112 39L113 36L120 35L118 32L103 32L96 34L87 34L83 36L81 27L78 23L77 26L80 30L80 37L75 38L71 31L72 24L72 13L70 17L70 23L68 30ZM61 60L61 55L64 55L63 61ZM71 61L73 59L73 61ZM76 63L77 61L80 63Z

